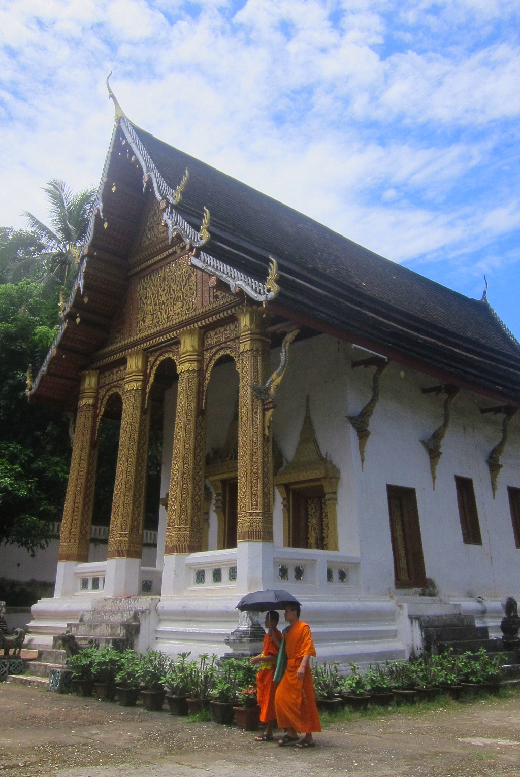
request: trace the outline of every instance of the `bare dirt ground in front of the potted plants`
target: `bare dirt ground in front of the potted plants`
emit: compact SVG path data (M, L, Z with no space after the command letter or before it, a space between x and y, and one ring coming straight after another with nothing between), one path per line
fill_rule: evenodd
M256 744L235 726L0 684L9 777L520 775L520 694L326 722L313 750Z

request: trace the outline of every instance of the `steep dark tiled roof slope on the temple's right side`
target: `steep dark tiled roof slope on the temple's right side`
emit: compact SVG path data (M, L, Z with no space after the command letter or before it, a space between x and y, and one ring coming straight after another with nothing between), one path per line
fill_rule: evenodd
M485 301L458 294L338 235L291 207L134 131L197 228L211 213L208 252L259 280L277 258L277 302L439 371L520 399L520 346Z

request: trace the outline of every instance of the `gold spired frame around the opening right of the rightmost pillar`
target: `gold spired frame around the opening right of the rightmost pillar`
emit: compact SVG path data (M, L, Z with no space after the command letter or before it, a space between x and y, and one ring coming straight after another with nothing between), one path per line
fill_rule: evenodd
M309 397L305 406L305 417L295 455L277 476L274 477L274 485L281 496L282 513L284 518L284 545L288 545L289 522L289 492L293 486L318 486L322 485L325 491L323 503L323 542L326 550L337 550L337 484L340 479L340 470L325 458L319 449L316 440L316 432L312 424L309 407ZM316 505L316 510L319 507ZM317 524L316 524L317 536ZM309 528L309 536L311 529ZM312 547L312 545L310 545Z

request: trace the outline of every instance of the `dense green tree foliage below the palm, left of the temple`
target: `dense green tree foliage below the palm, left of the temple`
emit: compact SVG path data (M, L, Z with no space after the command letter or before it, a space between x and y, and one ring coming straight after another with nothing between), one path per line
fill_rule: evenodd
M58 331L57 295L28 280L0 285L0 542L32 552L61 520L71 455L65 414L25 395L29 364L36 375Z

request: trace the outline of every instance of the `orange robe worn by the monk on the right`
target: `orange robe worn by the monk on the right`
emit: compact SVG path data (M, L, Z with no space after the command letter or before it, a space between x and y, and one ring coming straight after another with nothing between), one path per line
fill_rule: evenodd
M297 733L321 731L309 664L303 680L296 676L302 658L316 656L311 630L306 623L296 621L284 636L287 668L274 697L278 728L291 726Z

